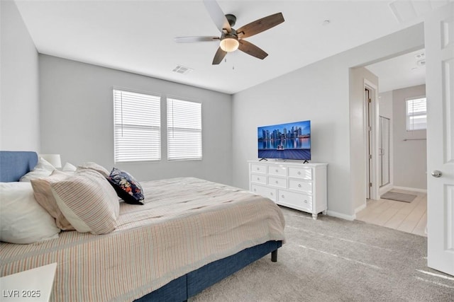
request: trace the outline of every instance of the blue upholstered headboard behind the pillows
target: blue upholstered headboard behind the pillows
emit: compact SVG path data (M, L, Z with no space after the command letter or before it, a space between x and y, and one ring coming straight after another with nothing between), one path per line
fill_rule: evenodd
M33 151L0 151L0 182L19 181L38 163Z

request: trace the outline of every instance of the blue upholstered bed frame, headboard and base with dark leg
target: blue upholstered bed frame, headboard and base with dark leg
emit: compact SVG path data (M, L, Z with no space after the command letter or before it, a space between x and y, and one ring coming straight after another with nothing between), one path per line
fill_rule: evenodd
M38 163L38 155L32 151L0 151L0 182L16 182ZM268 241L247 248L221 260L185 274L165 286L151 291L135 301L187 301L207 287L238 272L250 263L271 253L272 262L277 261L277 249L282 241Z

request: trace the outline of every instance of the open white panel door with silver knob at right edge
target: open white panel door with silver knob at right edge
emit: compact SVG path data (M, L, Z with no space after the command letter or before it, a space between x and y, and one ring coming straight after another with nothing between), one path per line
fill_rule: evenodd
M454 275L454 4L424 23L428 267Z

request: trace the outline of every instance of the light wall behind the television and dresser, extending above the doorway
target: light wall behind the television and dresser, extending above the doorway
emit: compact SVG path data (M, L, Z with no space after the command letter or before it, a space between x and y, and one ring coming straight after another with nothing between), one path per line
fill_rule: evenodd
M423 44L423 25L414 25L233 95L233 185L248 188L247 161L257 158L258 126L311 120L312 161L329 164L328 213L353 219L353 197L363 188L352 185L351 175L361 175L365 161L350 161L349 69Z

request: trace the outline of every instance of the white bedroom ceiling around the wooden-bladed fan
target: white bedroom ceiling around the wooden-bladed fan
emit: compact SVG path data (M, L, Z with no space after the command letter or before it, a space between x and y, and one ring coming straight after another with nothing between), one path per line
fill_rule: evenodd
M277 12L283 13L285 22L246 39L269 54L264 60L236 51L227 55L227 62L213 66L218 42L173 40L219 35L201 0L16 0L42 54L223 93L243 91L419 22L417 18L399 22L390 2L218 1L224 13L236 15L234 28ZM401 18L406 9L401 8ZM178 74L172 71L177 65L194 70Z

